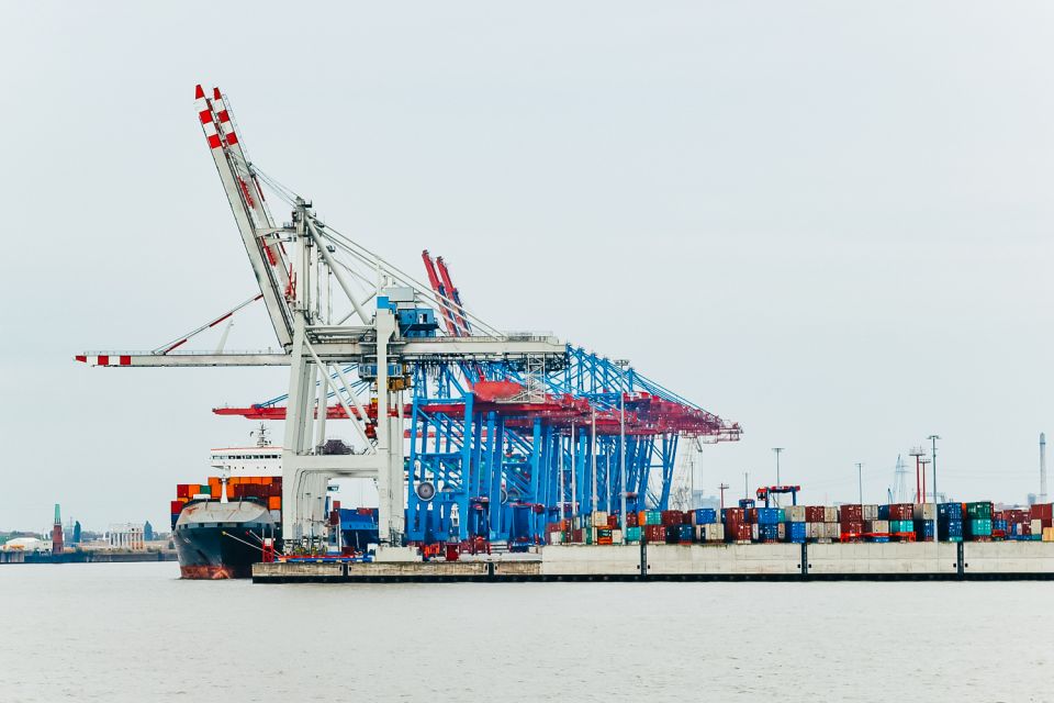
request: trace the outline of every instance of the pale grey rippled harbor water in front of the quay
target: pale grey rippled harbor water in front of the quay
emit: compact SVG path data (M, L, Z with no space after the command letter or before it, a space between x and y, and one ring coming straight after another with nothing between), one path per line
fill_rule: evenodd
M1052 701L1050 582L181 581L0 567L0 701Z

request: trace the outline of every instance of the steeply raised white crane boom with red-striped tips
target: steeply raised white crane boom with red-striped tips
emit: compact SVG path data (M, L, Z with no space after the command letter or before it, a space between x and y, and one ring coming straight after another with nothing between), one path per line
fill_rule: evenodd
M220 89L213 89L212 98L209 98L198 86L194 105L274 334L282 347L288 349L293 343L292 312L285 302L289 263L281 243L272 236L274 222L267 210L264 192L245 158L231 110Z

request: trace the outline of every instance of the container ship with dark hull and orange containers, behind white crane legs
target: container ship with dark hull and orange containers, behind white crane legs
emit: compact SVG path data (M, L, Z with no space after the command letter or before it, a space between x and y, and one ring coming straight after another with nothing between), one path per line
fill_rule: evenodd
M283 551L282 448L268 442L264 426L253 434L256 446L212 450L211 466L218 476L176 486L172 542L184 579L250 578L254 563ZM348 451L339 440L327 442L323 450ZM330 529L328 551L350 556L377 544L375 507L346 510L327 498L327 512L330 525L339 524Z

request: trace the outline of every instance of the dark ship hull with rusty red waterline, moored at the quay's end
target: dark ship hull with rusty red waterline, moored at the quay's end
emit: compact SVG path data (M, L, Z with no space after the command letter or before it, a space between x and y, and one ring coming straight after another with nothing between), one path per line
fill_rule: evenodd
M172 542L184 579L248 579L261 560L262 539L280 538L280 527L255 503L208 501L188 505Z

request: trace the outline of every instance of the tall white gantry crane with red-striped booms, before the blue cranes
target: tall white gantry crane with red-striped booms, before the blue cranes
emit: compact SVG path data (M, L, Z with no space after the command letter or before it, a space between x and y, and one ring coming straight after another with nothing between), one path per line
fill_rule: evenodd
M429 360L540 364L564 357L556 338L498 333L347 236L326 226L312 205L267 177L246 157L226 97L197 88L195 107L224 192L231 203L259 293L223 315L152 352L89 352L78 361L103 367L290 367L282 455L282 534L289 540L323 536L330 479L372 478L379 504L379 559L412 559L405 534L404 408L410 368ZM267 186L292 208L276 224ZM336 283L336 286L334 286ZM264 300L281 352L193 352L191 338ZM403 334L411 311L469 317L472 334ZM358 378L348 379L349 367ZM371 397L360 397L355 387ZM339 403L358 440L351 454L324 454L327 398Z

